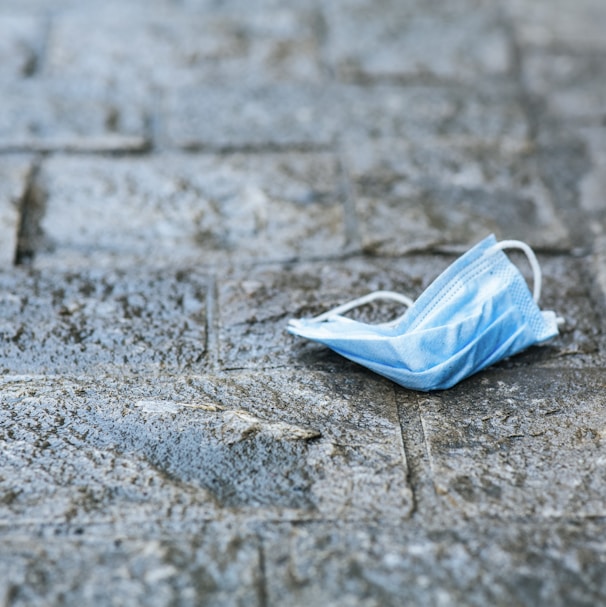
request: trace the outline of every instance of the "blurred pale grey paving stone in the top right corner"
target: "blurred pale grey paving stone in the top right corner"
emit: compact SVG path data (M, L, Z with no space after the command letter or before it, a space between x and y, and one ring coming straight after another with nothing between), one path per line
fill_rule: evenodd
M514 0L503 8L525 45L606 49L606 8L601 0Z

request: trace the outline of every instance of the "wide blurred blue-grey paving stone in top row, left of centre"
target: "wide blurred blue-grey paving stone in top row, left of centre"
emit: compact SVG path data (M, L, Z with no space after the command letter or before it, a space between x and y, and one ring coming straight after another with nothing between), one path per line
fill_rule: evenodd
M104 11L55 20L46 73L123 88L137 82L155 90L224 81L316 81L322 80L322 65L314 19L306 12Z

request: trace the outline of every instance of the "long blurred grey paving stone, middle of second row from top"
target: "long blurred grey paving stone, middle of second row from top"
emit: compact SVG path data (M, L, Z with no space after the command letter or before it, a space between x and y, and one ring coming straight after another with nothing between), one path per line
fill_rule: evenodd
M211 118L212 117L212 118ZM369 138L520 143L525 111L515 89L276 85L171 91L163 140L200 148L363 146Z

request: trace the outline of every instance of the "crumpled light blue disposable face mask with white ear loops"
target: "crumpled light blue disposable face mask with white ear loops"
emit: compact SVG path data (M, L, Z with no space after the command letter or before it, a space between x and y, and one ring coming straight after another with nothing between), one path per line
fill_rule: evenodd
M521 249L534 273L533 294L504 249ZM558 334L563 319L538 307L541 268L532 249L489 236L448 267L413 302L376 291L320 316L291 320L288 331L413 390L443 390L499 360ZM378 325L342 314L376 299L408 307Z

